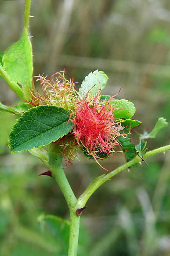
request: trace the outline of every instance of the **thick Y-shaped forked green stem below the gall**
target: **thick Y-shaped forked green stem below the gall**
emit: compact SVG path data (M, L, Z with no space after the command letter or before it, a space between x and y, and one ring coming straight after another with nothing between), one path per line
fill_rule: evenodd
M159 153L164 153L166 150L170 150L170 145L164 146L162 148L157 148L147 152L144 158L149 156L154 156ZM41 152L40 152L41 153ZM43 152L42 152L43 153ZM37 154L37 152L34 154ZM43 157L40 154L40 159L43 158L43 161L47 161L47 157ZM45 159L44 159L45 157ZM78 198L74 196L73 190L70 187L64 170L62 168L62 155L60 154L60 148L57 144L49 146L48 150L48 168L52 172L53 178L58 183L70 211L70 232L69 232L69 247L68 247L68 256L77 256L78 249L78 236L79 236L79 225L80 225L80 216L77 216L76 210L85 206L89 197L99 188L106 180L111 179L117 173L123 171L124 169L130 167L132 164L139 163L141 158L139 156L135 157L133 160L123 164L114 171L108 173L107 175L101 175L93 180L85 192ZM45 163L46 163L45 161Z

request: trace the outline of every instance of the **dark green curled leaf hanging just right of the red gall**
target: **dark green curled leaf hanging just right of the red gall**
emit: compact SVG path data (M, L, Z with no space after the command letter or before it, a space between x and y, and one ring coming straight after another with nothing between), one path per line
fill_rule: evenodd
M140 121L137 120L125 120L122 124L123 126L126 126L123 131L120 131L120 133L129 133L133 128L139 126L141 124ZM118 137L118 141L121 144L122 150L124 150L124 155L126 158L126 161L131 161L134 157L137 156L135 146L130 141L130 134L125 135L124 137ZM136 167L138 164L133 164L129 168Z

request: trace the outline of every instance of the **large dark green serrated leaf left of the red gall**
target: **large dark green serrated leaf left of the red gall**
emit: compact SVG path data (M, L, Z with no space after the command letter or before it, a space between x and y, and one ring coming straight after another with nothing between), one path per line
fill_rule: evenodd
M69 112L52 105L37 106L24 112L9 135L12 153L38 148L58 140L72 130Z

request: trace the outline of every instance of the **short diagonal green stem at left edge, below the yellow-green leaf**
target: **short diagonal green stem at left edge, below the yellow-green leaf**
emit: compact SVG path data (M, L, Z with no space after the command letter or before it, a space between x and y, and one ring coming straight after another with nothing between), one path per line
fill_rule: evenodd
M8 74L6 73L6 71L1 65L0 65L0 75L4 78L4 80L9 85L9 87L18 95L18 97L22 101L24 101L22 89L19 87L17 83L15 83L14 81L11 81L10 77L8 76Z

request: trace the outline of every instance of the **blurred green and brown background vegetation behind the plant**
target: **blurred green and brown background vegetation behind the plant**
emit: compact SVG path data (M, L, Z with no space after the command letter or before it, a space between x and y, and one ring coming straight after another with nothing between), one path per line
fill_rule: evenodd
M0 52L20 38L24 4L0 1ZM65 68L78 88L89 72L103 70L109 76L103 94L116 94L123 86L117 98L135 104L139 133L150 131L157 117L170 123L169 0L32 0L31 15L35 76ZM0 101L19 102L3 79ZM41 216L68 219L67 205L54 180L38 177L46 171L38 159L28 152L10 154L7 138L15 120L0 113L0 253L65 256L60 239L56 249L44 235ZM167 126L147 147L169 143ZM117 153L103 165L113 170L124 162ZM89 199L81 215L79 256L170 255L170 153L147 163L118 174ZM79 196L105 171L82 156L65 172Z

